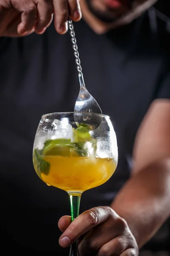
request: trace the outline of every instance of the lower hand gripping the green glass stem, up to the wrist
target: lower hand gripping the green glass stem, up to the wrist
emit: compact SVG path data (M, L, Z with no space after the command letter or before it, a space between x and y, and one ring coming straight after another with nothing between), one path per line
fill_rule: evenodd
M110 207L83 212L72 223L69 216L59 219L62 247L79 239L80 256L138 256L136 240L126 223Z

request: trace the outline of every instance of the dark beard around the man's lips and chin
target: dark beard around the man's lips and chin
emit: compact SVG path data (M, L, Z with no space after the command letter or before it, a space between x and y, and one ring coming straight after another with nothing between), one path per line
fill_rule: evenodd
M129 10L132 9L133 1L134 0L128 1ZM111 10L108 10L107 12L102 12L100 10L97 10L96 8L94 8L92 0L86 0L86 3L88 5L88 9L90 10L90 12L105 23L113 23L125 15L125 13L114 14L114 12Z

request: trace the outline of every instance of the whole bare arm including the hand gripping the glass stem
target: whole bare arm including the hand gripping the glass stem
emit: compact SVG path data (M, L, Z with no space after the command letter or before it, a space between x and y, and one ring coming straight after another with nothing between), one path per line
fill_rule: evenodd
M132 175L111 207L89 209L72 223L69 216L60 218L62 247L80 237L82 256L138 256L139 247L170 215L170 100L151 105L133 158Z

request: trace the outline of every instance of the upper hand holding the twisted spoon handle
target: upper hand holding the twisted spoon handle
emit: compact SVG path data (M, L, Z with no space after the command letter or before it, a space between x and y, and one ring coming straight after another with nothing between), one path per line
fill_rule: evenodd
M81 19L79 0L0 0L0 36L42 34L51 24L59 34L68 30L67 20Z

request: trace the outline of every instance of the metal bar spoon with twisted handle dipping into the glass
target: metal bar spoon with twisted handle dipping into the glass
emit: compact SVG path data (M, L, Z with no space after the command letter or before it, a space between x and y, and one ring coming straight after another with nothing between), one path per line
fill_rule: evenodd
M75 38L75 33L74 33L74 27L73 27L73 23L72 20L69 19L68 20L68 28L70 30L70 35L71 35L71 41L73 44L73 49L74 49L74 56L76 58L76 64L77 64L77 71L78 71L78 76L79 76L79 84L80 84L80 90L79 90L79 95L77 97L77 101L76 104L74 106L74 120L76 122L76 124L80 124L80 123L85 123L87 125L89 125L91 127L91 129L95 129L97 128L101 121L102 121L102 117L98 116L98 121L94 122L93 120L93 115L91 115L90 113L99 113L102 114L102 110L99 107L99 104L96 102L96 100L94 99L94 97L88 92L87 88L85 87L85 82L83 79L83 75L82 75L82 67L80 65L80 59L79 59L79 52L78 52L78 48L77 48L77 41ZM85 113L89 113L88 115L76 115L77 112L85 112ZM96 117L95 117L96 119ZM95 123L95 124L94 124Z

